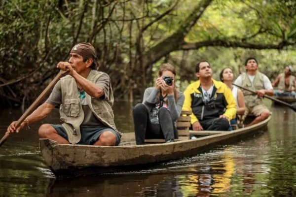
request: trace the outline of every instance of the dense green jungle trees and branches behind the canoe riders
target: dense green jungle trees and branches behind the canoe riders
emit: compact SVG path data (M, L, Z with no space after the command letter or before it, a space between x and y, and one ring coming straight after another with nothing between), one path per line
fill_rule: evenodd
M244 70L255 56L271 79L296 63L295 0L1 0L0 105L26 106L78 42L91 42L114 97L141 98L157 67L176 66L184 90L208 60Z

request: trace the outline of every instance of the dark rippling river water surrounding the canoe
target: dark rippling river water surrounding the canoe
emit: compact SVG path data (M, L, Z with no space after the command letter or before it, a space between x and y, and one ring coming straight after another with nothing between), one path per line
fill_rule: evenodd
M296 196L296 113L271 103L272 119L256 136L148 169L56 179L38 149L37 129L0 147L0 197L292 197ZM116 125L133 131L132 104L116 102ZM21 116L0 112L0 134ZM58 110L42 123L58 123Z

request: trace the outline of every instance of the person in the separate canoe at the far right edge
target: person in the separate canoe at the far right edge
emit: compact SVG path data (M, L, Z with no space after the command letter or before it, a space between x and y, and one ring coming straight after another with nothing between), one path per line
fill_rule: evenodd
M279 74L274 82L273 87L277 87L278 90L274 91L274 96L280 97L296 97L296 77L292 75L293 67L286 66L284 73Z

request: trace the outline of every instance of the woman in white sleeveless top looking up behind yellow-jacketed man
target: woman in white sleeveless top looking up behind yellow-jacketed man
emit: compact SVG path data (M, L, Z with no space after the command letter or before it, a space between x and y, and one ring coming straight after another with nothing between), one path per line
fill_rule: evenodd
M225 67L220 72L220 80L225 83L230 90L232 91L233 97L236 101L236 114L244 115L246 110L245 98L243 92L238 89L236 86L232 85L233 83L233 71L229 67ZM231 125L237 125L238 116L235 119L230 120Z

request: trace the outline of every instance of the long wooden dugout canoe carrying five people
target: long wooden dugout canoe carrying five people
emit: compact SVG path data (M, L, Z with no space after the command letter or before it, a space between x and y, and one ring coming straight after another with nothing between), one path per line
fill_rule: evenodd
M237 140L265 127L268 119L251 127L235 131L190 131L204 135L171 143L135 145L134 133L123 133L119 146L91 146L58 144L49 139L39 139L45 163L57 176L81 176L135 169L139 164L151 164L194 155L220 143Z

